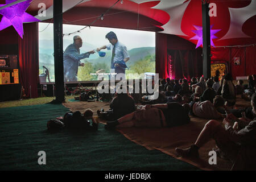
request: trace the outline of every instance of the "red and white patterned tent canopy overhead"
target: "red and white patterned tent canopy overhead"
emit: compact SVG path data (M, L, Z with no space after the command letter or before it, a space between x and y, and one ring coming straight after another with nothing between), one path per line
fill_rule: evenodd
M63 23L90 25L117 0L63 0ZM0 0L0 4L5 4ZM53 22L53 0L45 0L46 16L38 16L41 0L31 2L27 13L42 20ZM256 1L255 0L211 0L216 6L210 17L214 34L214 46L237 46L256 43ZM1 16L0 16L1 18ZM92 26L127 28L155 31L180 36L190 42L196 34L195 26L202 26L201 0L123 0L104 14L104 20L97 20Z

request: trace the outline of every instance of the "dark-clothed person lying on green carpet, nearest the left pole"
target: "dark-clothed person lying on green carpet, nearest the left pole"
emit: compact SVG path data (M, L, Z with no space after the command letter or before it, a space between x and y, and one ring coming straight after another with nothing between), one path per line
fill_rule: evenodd
M92 125L90 125L89 119L92 119ZM80 111L75 111L75 113L68 112L63 117L63 123L66 128L72 130L98 130L98 123L93 118L91 109L86 109L84 114L81 114Z

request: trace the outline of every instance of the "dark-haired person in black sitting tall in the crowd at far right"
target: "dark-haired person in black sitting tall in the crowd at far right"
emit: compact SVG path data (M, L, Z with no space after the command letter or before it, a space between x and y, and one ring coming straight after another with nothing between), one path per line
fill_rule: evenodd
M221 96L224 98L224 101L226 101L226 106L233 106L236 104L236 89L232 80L233 79L230 73L227 73L224 76Z

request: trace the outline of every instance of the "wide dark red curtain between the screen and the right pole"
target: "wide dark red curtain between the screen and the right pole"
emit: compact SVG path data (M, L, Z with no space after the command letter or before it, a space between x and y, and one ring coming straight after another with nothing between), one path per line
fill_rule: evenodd
M156 33L156 73L159 78L170 77L172 58L172 78L200 77L203 73L202 49L176 35Z

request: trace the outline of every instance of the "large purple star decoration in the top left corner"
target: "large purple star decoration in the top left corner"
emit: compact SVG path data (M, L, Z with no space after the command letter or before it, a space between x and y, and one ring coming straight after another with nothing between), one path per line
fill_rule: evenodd
M5 5L14 1L16 0L6 0ZM40 22L39 19L34 18L34 16L25 12L28 6L30 6L31 1L33 0L20 2L16 5L0 10L0 14L3 15L0 22L0 31L12 25L18 32L19 36L23 38L23 22ZM0 5L0 7L5 5Z

